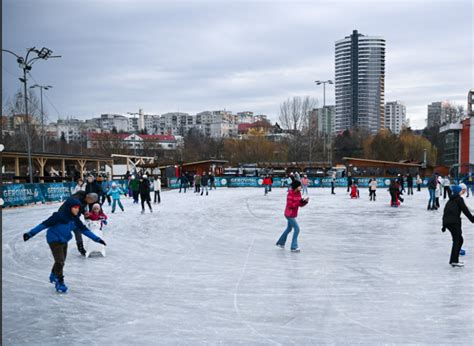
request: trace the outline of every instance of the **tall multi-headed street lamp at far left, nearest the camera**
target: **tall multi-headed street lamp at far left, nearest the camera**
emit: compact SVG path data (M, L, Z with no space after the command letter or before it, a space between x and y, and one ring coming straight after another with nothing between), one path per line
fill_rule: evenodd
M28 170L29 170L29 175L30 175L30 183L33 183L33 164L31 160L31 138L30 138L30 120L28 117L28 96L27 96L27 90L28 90L28 78L26 77L27 72L31 71L31 68L33 64L40 60L47 60L49 58L60 58L60 55L52 56L53 51L51 49L48 49L46 47L41 48L41 50L36 49L36 47L33 48L28 48L26 50L26 55L25 57L21 57L18 54L12 52L11 50L8 49L2 49L2 52L9 53L13 55L16 58L16 62L18 63L18 67L20 67L23 70L23 78L19 78L20 81L23 83L23 93L24 93L24 99L25 99L25 124L26 124L26 146L27 146L27 151L28 151ZM36 53L36 57L30 56L31 53Z

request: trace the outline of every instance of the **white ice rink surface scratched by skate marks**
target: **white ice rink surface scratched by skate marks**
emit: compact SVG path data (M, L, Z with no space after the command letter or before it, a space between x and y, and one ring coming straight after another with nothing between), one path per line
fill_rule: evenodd
M130 199L106 206L107 257L71 241L65 295L48 283L46 232L22 239L59 204L4 210L3 344L472 344L474 226L464 219L466 267L452 268L426 190L399 209L386 189L376 202L336 193L310 190L301 253L274 245L284 189L168 191L145 215Z

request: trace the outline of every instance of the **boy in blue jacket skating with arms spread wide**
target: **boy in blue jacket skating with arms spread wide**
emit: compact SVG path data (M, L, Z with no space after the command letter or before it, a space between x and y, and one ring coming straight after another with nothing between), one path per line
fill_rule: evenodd
M23 240L34 237L44 229L48 229L46 240L54 257L54 265L49 276L49 281L54 283L56 291L66 293L67 286L64 283L63 267L66 262L67 243L72 239L72 232L78 229L86 237L93 241L106 245L105 242L92 233L79 219L81 203L75 198L68 198L64 202L62 210L53 213L47 220L40 223L31 231L23 234Z

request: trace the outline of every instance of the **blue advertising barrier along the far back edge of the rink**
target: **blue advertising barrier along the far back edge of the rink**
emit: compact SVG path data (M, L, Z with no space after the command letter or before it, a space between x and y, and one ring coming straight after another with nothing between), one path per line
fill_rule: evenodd
M375 178L377 187L383 188L390 185L389 178ZM370 178L356 178L359 187L369 187ZM416 188L415 178L413 179L413 187ZM332 178L309 178L309 187L331 187ZM262 177L216 177L216 187L261 187L263 186ZM426 187L428 180L424 179L421 186ZM180 182L178 178L169 179L168 183L171 189L179 189ZM273 178L273 187L287 187L286 179ZM347 178L337 178L336 187L347 187Z

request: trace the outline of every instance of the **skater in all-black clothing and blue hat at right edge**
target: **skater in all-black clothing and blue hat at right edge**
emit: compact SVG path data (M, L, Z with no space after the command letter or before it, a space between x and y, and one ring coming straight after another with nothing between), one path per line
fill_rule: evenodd
M442 231L445 232L446 229L448 229L449 232L451 232L451 236L453 238L451 257L449 258L449 264L453 267L464 266L463 262L459 262L459 251L461 250L462 244L464 242L461 229L461 212L466 215L469 221L474 223L474 216L472 216L468 207L464 203L464 199L462 198L462 195L466 192L466 190L467 188L463 188L461 185L455 185L451 187L452 196L446 203L443 212Z

